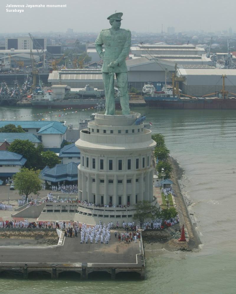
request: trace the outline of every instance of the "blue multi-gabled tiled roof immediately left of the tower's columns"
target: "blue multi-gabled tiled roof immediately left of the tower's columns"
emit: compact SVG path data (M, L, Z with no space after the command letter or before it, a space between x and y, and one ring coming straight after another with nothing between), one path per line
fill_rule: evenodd
M58 181L76 181L78 180L78 164L70 162L68 164L56 164L53 168L45 166L40 172L40 179L58 182Z

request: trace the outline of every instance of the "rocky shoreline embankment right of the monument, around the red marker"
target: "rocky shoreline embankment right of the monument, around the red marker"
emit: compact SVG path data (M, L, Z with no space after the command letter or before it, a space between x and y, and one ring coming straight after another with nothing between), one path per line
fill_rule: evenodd
M196 232L196 222L194 217L189 214L187 206L190 205L190 201L185 199L181 193L179 186L179 180L181 180L184 170L179 166L176 159L169 158L169 162L173 167L171 181L173 181L173 190L175 191L175 203L176 210L179 215L180 223L172 227L168 227L163 230L145 230L142 232L142 240L145 250L165 249L168 251L199 251L199 245L201 240ZM186 242L179 242L181 227L187 229L188 238Z

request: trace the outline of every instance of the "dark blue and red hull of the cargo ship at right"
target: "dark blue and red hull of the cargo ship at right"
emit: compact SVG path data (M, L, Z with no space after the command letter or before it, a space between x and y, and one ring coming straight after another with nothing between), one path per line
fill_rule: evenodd
M148 107L160 109L236 109L236 99L160 100L144 97Z

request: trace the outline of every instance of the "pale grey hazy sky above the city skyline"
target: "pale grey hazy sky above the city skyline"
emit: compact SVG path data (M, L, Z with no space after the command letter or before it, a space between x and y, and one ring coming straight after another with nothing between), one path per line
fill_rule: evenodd
M6 4L67 4L67 8L11 8ZM109 28L106 19L123 12L122 28L137 32L184 30L235 30L235 0L0 0L0 32L49 32L73 28L75 32L98 32Z

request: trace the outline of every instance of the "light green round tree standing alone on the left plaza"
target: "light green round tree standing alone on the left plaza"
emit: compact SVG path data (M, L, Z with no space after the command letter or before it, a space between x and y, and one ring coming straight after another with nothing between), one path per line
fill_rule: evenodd
M15 189L19 190L20 195L25 194L27 199L29 194L33 193L36 195L41 190L39 173L39 170L35 171L23 167L18 173L14 174Z

